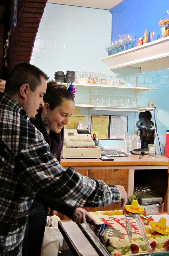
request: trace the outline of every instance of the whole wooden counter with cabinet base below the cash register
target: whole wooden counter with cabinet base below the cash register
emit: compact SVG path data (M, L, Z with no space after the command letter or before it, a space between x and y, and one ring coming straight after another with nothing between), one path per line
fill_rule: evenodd
M102 179L105 183L109 185L123 185L130 196L134 189L134 172L135 170L144 170L146 172L149 170L156 169L159 174L159 169L164 170L167 174L168 170L168 158L161 155L156 155L155 158L149 158L149 156L144 155L143 158L138 158L139 155L130 155L124 157L114 157L114 161L102 161L100 159L62 159L61 165L64 168L68 166L73 167L80 174L94 178ZM145 171L147 170L147 171ZM145 175L145 174L144 174ZM142 172L139 176L143 177ZM167 177L168 180L168 177ZM165 178L166 181L166 178ZM167 182L167 181L166 181ZM165 188L164 199L164 210L169 212L168 209L168 193L167 185ZM111 203L107 207L100 208L86 208L87 211L97 211L97 210L115 210L120 209L120 203ZM61 220L65 220L63 215L59 216Z

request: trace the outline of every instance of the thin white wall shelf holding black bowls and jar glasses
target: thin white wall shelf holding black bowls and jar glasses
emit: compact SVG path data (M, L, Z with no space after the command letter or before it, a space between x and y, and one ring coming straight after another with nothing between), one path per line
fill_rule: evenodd
M67 83L62 83L67 85ZM108 86L108 85L100 85L100 84L74 84L74 86L86 86L86 87L91 87L91 88L110 88L110 89L127 89L127 90L138 90L138 92L145 92L145 91L151 91L151 90L158 90L158 88L149 88L149 87L132 87L132 86Z

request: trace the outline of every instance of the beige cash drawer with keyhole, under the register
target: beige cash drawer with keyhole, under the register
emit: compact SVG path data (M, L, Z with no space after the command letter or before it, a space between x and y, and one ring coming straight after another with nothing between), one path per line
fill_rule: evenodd
M63 158L100 158L100 148L67 148L63 146Z

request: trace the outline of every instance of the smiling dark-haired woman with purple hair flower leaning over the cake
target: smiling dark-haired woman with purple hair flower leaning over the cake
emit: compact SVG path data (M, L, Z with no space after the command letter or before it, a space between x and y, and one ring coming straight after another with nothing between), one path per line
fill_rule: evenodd
M75 108L73 86L67 89L51 80L47 83L46 94L43 97L44 106L38 110L36 119L32 120L35 127L43 134L50 146L50 151L60 163L61 151L64 143L64 125L69 123ZM46 201L45 205L43 204ZM41 202L41 203L40 203ZM60 200L37 194L29 209L26 232L24 236L22 256L40 256L47 215L52 216L56 211L72 218L74 222L83 223L86 218L93 218L82 208L69 207ZM56 207L57 206L57 207Z

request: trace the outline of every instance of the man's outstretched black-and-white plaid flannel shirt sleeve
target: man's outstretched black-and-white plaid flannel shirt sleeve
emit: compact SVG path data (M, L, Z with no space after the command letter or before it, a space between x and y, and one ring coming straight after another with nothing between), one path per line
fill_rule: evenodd
M17 154L14 172L21 184L35 192L60 198L71 206L100 207L121 199L117 187L82 176L71 167L65 170L43 140Z

